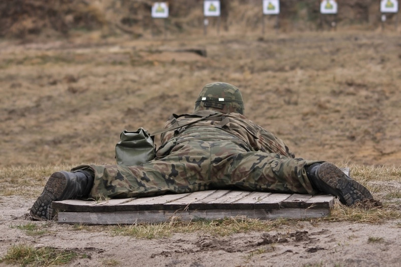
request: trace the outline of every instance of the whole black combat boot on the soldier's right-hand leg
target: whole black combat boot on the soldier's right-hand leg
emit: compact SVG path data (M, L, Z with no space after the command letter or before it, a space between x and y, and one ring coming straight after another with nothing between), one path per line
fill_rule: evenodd
M369 190L331 163L308 166L306 174L314 188L337 196L341 203L348 206L363 199L373 199Z

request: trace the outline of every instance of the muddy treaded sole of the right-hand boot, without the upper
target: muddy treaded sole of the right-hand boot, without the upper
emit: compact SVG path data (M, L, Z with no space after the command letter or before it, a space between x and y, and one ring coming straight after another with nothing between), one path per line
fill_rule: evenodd
M318 176L332 189L328 191L332 191L330 193L338 196L343 204L351 206L363 199L373 199L369 190L331 163L323 163L319 168Z

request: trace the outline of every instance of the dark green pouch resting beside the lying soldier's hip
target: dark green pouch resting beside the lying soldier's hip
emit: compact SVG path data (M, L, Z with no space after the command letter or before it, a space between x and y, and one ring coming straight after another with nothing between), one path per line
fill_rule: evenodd
M156 145L153 136L144 128L136 131L123 130L116 144L117 164L137 166L155 158Z

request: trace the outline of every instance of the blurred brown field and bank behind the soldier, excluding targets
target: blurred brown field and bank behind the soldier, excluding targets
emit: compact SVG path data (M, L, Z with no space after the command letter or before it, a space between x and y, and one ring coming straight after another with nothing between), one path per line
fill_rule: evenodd
M161 128L213 81L298 157L401 164L401 27L380 1L221 0L207 27L204 1L164 19L154 2L0 2L0 166L112 164L123 129Z

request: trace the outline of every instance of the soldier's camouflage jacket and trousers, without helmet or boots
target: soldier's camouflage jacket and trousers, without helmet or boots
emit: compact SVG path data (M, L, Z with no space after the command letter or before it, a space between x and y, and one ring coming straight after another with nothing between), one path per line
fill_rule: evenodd
M202 110L205 115L212 110ZM194 120L173 117L165 127ZM316 194L305 166L322 161L295 159L287 145L238 113L166 132L157 157L139 166L82 165L95 174L90 196L125 198L237 188ZM167 146L167 147L166 147Z

